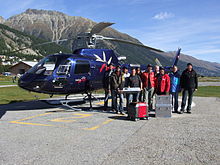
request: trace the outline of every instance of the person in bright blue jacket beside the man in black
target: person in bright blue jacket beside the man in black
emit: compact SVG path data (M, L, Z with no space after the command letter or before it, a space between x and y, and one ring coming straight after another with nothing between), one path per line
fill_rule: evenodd
M170 76L170 94L172 95L172 105L174 107L174 113L178 113L178 96L181 91L180 87L180 74L178 73L177 66L173 66Z

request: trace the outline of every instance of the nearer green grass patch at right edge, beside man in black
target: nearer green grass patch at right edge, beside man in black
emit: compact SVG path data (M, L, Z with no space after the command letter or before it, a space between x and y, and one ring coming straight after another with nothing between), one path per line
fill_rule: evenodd
M201 97L220 97L220 86L201 86L194 95Z

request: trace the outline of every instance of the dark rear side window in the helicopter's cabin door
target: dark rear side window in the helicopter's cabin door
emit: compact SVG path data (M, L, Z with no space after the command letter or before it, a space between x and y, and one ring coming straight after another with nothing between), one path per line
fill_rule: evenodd
M77 60L75 64L75 74L83 74L90 72L90 64L88 61Z

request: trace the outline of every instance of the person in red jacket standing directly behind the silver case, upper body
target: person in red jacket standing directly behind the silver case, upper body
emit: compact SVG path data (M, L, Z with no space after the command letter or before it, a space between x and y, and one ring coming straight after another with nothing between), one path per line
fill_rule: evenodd
M170 77L165 74L164 68L160 68L160 74L156 77L156 94L169 95L170 91Z

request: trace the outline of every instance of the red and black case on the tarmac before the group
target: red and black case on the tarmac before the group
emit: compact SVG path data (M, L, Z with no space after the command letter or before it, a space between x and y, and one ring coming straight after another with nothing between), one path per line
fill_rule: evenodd
M138 119L148 119L147 104L135 102L128 105L128 118L137 121Z

